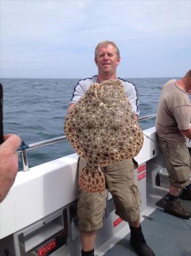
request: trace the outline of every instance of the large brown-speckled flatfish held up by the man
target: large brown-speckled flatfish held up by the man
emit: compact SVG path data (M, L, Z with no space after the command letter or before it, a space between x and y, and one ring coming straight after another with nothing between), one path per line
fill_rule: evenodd
M100 167L134 158L142 148L143 133L120 80L92 84L67 114L64 131L86 165L79 175L85 191L105 189Z

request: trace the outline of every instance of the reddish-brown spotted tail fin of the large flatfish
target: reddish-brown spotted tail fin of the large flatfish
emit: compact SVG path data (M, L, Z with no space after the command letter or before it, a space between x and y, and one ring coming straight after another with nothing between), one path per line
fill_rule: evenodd
M100 167L91 167L86 164L80 171L78 184L80 188L88 192L104 191L105 178Z

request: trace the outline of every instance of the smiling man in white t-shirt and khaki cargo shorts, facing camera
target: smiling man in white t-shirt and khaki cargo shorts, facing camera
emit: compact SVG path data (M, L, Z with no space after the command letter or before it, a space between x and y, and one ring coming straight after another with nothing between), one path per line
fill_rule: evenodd
M101 84L101 82L107 82L107 80L111 79L121 81L129 98L131 108L133 108L134 117L137 120L139 115L137 88L131 82L124 81L116 76L117 65L120 64L120 52L116 44L111 41L97 44L95 63L98 68L98 75L93 76L91 79L80 80L75 86L66 120L69 118L70 113L73 112L71 110L75 104L84 96L92 84ZM79 129L79 133L81 132ZM92 154L94 154L93 151ZM79 174L82 172L84 165L84 161L80 158ZM145 241L140 225L139 207L141 205L141 195L134 176L134 169L137 167L137 162L133 158L128 158L104 166L101 170L105 177L106 187L113 196L116 214L124 221L129 222L131 231L130 245L138 255L154 256L154 252ZM107 196L106 189L98 192L90 192L88 190L88 188L85 190L80 187L78 198L78 224L82 240L82 256L94 256L96 230L103 226L105 198Z

